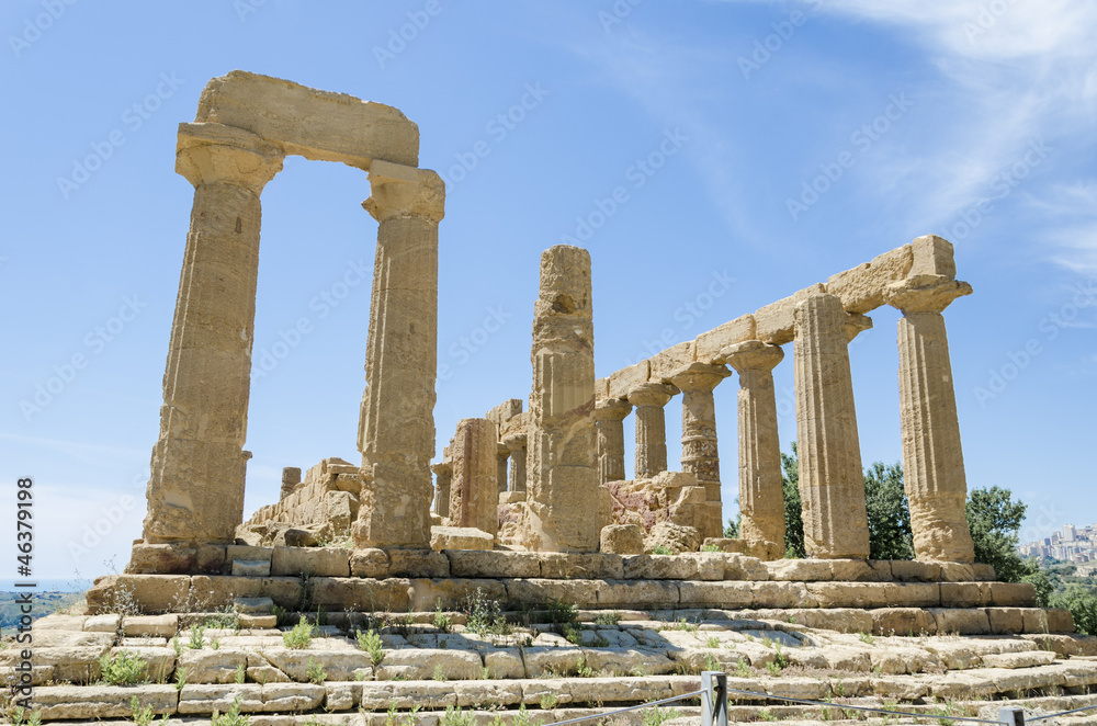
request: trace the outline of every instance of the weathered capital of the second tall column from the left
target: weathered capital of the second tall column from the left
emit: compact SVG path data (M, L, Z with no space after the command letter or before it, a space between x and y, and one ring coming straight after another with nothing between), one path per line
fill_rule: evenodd
M370 198L362 206L377 222L421 217L437 224L445 215L445 184L429 169L375 159L370 165Z

